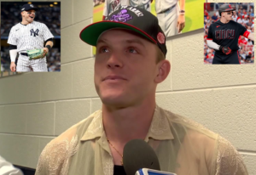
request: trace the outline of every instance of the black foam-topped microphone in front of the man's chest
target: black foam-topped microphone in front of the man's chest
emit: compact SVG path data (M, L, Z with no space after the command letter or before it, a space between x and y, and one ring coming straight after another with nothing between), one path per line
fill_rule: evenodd
M160 172L157 155L143 139L133 139L125 144L123 161L126 175L176 175Z

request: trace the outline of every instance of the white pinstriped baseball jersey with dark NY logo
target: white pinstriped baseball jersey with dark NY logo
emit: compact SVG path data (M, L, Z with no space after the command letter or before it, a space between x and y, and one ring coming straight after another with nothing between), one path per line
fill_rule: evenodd
M17 46L18 52L44 48L44 42L54 36L43 23L32 21L28 25L18 23L9 32L8 43Z

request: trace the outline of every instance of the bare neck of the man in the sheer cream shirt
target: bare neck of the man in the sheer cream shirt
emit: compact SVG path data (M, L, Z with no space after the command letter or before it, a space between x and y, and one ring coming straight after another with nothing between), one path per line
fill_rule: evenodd
M146 138L154 109L154 100L145 100L143 104L118 110L103 104L103 126L107 138L119 147L123 147L131 139Z

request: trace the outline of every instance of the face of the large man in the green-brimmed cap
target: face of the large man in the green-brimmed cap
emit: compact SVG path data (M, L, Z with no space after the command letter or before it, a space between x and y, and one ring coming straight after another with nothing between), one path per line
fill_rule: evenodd
M113 29L96 45L95 86L103 104L124 107L155 93L156 46L131 33Z

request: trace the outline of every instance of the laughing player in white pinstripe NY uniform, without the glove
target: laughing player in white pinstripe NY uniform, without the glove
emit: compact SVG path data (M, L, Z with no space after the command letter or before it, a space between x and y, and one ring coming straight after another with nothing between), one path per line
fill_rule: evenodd
M11 71L48 71L45 55L53 46L54 36L46 25L34 21L37 10L32 4L23 5L20 13L22 21L11 28L8 38ZM44 58L29 60L26 51L35 48L44 48ZM17 53L20 55L16 66Z

